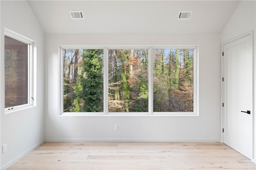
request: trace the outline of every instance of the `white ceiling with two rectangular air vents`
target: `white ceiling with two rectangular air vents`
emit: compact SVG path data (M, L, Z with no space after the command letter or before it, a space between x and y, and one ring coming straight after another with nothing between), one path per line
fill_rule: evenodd
M221 33L240 1L28 0L45 33L215 34ZM71 20L82 10L84 20ZM179 11L193 11L177 20Z

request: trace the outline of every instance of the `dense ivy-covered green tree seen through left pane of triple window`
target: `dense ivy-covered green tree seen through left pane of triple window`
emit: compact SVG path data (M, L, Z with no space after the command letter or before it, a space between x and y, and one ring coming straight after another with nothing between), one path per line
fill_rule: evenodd
M82 55L82 71L78 76L76 99L73 111L102 112L103 111L103 50L86 49Z

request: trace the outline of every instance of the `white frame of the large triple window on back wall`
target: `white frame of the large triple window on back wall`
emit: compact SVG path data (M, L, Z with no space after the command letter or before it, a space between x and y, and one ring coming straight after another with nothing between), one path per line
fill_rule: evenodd
M63 112L63 49L104 49L104 108L103 112ZM148 112L108 112L108 49L148 49ZM194 49L193 112L153 112L153 49ZM60 46L59 47L59 116L198 116L198 47L197 46Z

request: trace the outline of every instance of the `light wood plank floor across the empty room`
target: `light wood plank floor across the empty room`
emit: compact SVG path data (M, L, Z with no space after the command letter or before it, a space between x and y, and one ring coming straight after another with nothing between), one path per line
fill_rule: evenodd
M217 142L45 142L8 170L255 170Z

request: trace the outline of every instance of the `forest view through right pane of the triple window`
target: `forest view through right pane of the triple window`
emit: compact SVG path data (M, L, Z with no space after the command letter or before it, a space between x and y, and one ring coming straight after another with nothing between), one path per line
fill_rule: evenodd
M154 49L154 112L193 112L194 49Z

